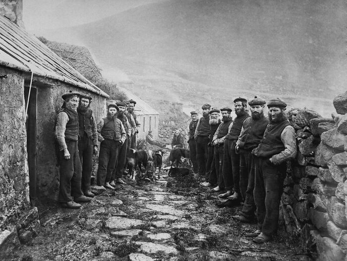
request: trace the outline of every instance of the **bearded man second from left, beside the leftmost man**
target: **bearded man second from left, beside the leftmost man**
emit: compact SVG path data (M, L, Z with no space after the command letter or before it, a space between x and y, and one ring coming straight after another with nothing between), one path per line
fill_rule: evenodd
M90 103L92 97L88 94L81 94L78 112L78 141L79 159L82 164L81 189L84 196L93 197L90 192L90 176L92 175L93 153L98 153L98 131Z

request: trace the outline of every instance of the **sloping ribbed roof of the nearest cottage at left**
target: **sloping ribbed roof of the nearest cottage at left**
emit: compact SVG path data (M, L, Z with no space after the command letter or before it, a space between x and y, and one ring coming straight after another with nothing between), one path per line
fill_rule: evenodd
M0 15L0 65L32 72L109 98L35 36Z

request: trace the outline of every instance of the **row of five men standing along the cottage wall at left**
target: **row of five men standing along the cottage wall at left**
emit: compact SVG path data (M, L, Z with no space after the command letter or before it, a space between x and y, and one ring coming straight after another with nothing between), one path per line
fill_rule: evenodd
M135 149L137 122L136 101L120 101L107 107L107 117L96 124L90 109L92 97L68 92L62 95L64 103L57 115L55 138L58 143L60 165L59 203L66 208L80 208L89 202L92 156L98 153L97 185L114 189L126 168L126 155Z

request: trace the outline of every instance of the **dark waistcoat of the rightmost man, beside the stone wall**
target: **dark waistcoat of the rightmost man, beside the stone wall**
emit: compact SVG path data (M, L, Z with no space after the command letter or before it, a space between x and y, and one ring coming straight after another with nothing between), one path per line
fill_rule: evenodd
M255 155L258 157L270 158L273 155L284 151L286 148L282 142L281 134L282 131L289 125L290 123L288 120L284 120L278 124L269 124Z

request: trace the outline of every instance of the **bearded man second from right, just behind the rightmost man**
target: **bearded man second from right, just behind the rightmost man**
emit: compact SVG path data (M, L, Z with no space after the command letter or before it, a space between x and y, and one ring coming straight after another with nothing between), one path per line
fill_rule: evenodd
M240 215L232 216L241 222L250 223L254 219L254 164L255 156L251 154L263 139L264 131L269 123L264 116L265 100L254 97L248 102L251 108L251 118L247 118L236 142L236 150L240 154L240 189L244 200Z

